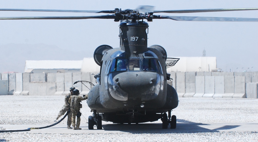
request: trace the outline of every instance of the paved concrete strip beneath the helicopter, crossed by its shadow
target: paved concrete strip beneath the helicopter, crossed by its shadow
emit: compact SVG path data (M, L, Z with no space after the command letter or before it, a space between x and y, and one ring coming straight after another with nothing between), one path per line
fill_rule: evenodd
M6 130L24 130L47 125L0 125ZM258 122L241 123L177 123L176 129L162 129L161 123L142 124L104 124L102 130L88 129L88 124L81 124L82 130L67 129L65 124L44 129L21 131L26 133L70 134L70 133L181 133L181 132L222 132L222 131L258 131Z

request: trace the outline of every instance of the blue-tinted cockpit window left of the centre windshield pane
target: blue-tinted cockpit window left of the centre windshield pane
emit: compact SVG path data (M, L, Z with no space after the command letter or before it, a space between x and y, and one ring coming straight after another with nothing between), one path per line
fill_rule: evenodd
M126 59L113 59L110 72L126 71Z

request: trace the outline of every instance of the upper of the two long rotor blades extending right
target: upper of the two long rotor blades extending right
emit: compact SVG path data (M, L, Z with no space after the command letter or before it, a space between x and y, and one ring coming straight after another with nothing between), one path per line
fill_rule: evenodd
M197 13L197 12L220 12L220 11L246 11L258 10L258 8L222 8L222 9L196 9L196 10L154 10L154 13Z

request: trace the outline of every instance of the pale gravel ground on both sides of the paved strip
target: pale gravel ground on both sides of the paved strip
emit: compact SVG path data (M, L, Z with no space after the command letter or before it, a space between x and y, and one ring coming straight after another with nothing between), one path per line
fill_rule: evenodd
M51 125L64 104L64 96L0 96L0 125ZM82 102L81 123L92 114ZM258 122L258 99L179 98L172 111L177 122ZM112 122L102 121L102 124ZM160 120L153 123L161 123ZM66 124L66 119L60 124ZM0 127L4 130L5 128ZM186 133L34 134L4 132L2 141L258 141L257 131Z

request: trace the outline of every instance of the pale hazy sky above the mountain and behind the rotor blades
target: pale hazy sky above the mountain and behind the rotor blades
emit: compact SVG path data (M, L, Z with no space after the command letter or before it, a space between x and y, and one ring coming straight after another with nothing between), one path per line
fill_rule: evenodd
M152 5L155 10L186 10L209 8L253 8L257 0L167 0L167 1L20 1L0 0L0 8L114 10L135 9ZM207 12L189 14L155 13L156 15L250 17L258 11ZM94 13L0 12L0 17L17 16L88 16ZM169 57L206 56L217 58L223 71L258 71L258 22L190 22L154 19L149 23L148 46L163 46ZM94 52L107 44L119 47L119 22L112 19L88 20L1 20L0 45L9 43L56 45L62 49ZM1 54L4 52L2 51ZM253 68L252 68L253 67ZM249 69L248 69L249 68Z

